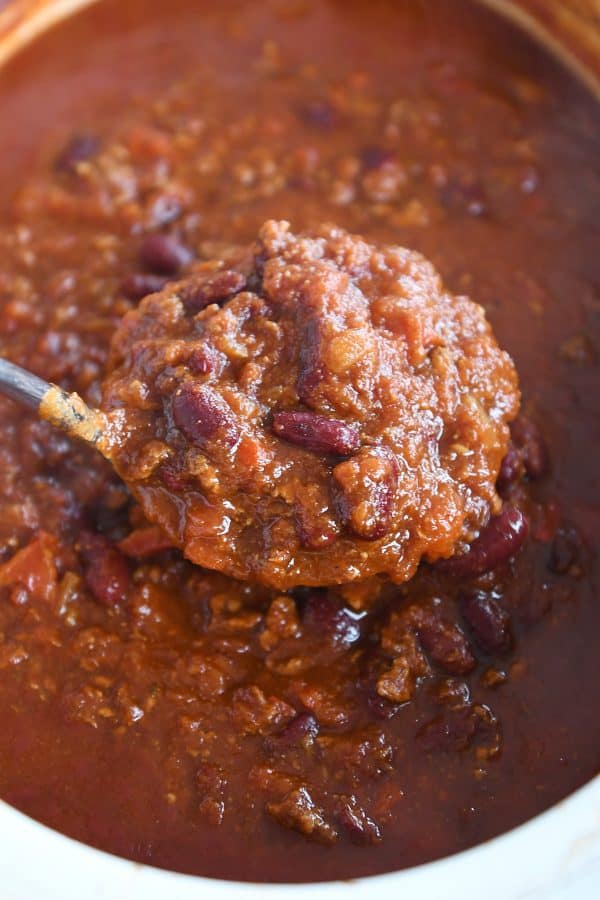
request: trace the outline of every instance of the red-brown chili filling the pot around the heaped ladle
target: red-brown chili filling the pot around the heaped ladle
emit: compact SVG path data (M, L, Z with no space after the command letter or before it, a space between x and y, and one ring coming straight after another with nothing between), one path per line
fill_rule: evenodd
M217 877L346 878L473 845L600 765L597 108L466 2L124 6L2 72L0 352L97 403L120 316L160 286L144 232L209 258L285 218L414 248L516 362L500 490L529 537L470 581L269 594L142 540L102 461L3 401L0 794ZM100 205L71 171L98 137L130 154Z

